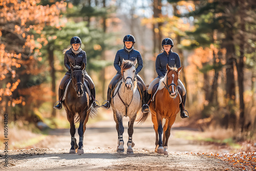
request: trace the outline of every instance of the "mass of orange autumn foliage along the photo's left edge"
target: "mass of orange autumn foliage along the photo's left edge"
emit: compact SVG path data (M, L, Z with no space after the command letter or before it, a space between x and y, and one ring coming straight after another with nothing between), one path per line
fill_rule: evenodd
M40 65L39 50L42 42L42 45L48 42L40 38L35 40L34 35L42 37L45 26L60 27L60 10L65 7L63 2L42 6L38 0L0 1L1 114L12 113L17 107L22 109L26 105L25 111L16 112L14 118L23 116L24 112L29 113L37 107L36 97L47 91L41 87L43 78L40 76L45 69Z

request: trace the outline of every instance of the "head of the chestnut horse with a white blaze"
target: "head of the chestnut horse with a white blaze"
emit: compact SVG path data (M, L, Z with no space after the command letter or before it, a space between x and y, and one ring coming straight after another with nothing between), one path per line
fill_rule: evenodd
M176 98L177 93L177 86L178 86L178 79L180 75L180 70L182 69L182 66L180 68L176 67L169 67L168 63L166 64L167 74L166 74L166 83L165 87L167 91L169 92L170 97Z

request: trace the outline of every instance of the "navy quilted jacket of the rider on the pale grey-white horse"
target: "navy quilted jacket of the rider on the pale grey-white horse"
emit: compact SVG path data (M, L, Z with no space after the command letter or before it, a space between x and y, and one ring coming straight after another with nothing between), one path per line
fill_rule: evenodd
M138 67L136 68L136 74L140 72L140 70L143 68L143 61L142 57L140 55L140 52L133 49L130 53L127 52L125 49L120 49L116 53L116 57L114 60L114 67L117 70L118 74L121 74L121 65L122 65L122 60L131 60L135 61L137 59L138 62Z

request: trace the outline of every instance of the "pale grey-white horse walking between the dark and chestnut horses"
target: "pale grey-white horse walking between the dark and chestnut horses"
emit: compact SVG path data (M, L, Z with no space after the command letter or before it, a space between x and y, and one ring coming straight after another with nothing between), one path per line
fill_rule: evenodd
M137 89L135 61L123 60L121 65L121 78L117 83L117 87L113 92L111 106L113 110L114 120L116 122L116 130L118 134L117 153L124 152L123 141L123 117L129 117L127 142L127 154L133 154L133 146L135 145L133 137L133 125L136 120L137 113L141 111L140 93Z

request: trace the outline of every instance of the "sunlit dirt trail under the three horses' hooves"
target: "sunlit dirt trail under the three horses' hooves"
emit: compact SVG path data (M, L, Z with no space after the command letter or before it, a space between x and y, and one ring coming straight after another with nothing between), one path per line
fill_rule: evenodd
M124 125L127 125L124 118ZM174 127L169 138L169 155L154 153L155 132L151 122L135 125L133 141L134 154L116 153L117 132L115 122L100 121L89 124L84 134L84 154L69 154L70 133L67 129L58 129L30 149L11 150L8 153L9 167L4 167L4 158L0 158L3 170L238 170L215 158L197 153L221 153L214 145L198 143L176 138L176 135L193 135L195 130ZM125 144L128 139L127 126L124 132ZM78 135L76 133L76 137ZM3 151L0 151L3 154Z

